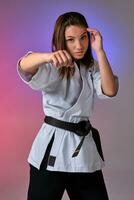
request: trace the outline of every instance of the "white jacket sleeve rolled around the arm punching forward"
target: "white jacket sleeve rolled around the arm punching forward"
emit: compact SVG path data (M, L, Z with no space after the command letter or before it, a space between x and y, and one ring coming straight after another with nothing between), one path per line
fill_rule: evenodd
M29 55L32 52L28 52L25 56ZM22 57L23 58L23 57ZM38 71L35 75L32 75L29 72L24 72L20 67L19 59L17 63L17 72L24 83L29 85L34 90L42 90L48 87L51 81L56 79L56 73L53 73L54 67L51 63L43 63L39 66Z

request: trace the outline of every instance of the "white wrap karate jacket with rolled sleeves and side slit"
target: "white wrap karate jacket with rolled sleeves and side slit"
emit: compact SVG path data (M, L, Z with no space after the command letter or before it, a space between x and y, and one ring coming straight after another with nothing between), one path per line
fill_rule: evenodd
M91 117L95 93L99 98L109 98L102 93L98 63L80 70L75 63L75 74L70 80L59 78L58 70L52 64L42 64L32 77L23 72L18 64L21 79L34 90L40 90L43 97L43 109L47 116L68 122L79 122ZM54 141L50 151L55 156L54 166L47 166L47 170L64 172L94 172L104 166L100 157L92 132L85 136L79 154L72 157L82 136L43 123L31 147L28 162L40 168L47 146L53 136Z

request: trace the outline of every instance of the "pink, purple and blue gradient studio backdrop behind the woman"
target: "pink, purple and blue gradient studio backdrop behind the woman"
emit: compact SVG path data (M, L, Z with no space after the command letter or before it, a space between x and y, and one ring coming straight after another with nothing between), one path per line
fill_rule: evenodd
M119 76L117 97L96 100L92 122L101 133L110 199L134 199L133 8L132 0L0 1L0 200L26 199L27 156L44 117L41 94L20 80L17 60L29 50L50 51L55 20L67 11L83 13L100 30Z

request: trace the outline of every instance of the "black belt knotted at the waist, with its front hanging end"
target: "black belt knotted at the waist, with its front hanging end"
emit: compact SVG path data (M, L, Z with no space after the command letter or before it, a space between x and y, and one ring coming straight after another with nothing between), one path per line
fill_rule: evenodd
M78 123L72 123L72 122L62 121L62 120L59 120L59 119L56 119L56 118L53 118L50 116L46 116L44 118L44 122L47 124L50 124L52 126L55 126L57 128L61 128L61 129L65 129L65 130L74 132L75 134L77 134L79 136L83 136L79 145L75 149L75 152L73 153L72 157L75 157L78 155L78 153L81 149L81 146L83 144L85 136L88 135L90 130L92 129L90 121L80 121Z

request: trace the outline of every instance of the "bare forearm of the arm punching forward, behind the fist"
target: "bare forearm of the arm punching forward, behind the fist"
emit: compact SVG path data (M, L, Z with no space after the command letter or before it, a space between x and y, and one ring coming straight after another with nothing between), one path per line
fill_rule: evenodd
M22 58L20 67L23 71L34 74L45 62L47 62L47 53L31 53Z

